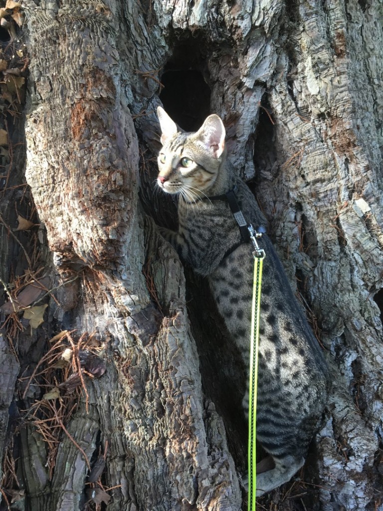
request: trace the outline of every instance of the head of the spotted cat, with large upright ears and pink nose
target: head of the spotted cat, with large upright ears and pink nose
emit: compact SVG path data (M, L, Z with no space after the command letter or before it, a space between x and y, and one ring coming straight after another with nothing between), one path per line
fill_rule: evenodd
M225 157L223 122L218 115L209 115L198 131L185 133L160 106L157 114L162 132L158 186L193 202L216 182Z

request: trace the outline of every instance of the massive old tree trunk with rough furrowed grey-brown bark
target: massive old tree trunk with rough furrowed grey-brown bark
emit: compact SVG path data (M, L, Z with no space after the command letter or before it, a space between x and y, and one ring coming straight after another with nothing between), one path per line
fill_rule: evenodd
M383 6L22 11L26 112L8 114L0 198L0 509L247 508L244 367L153 221L175 223L153 187L162 102L186 130L221 115L332 374L304 470L259 507L381 511ZM34 225L15 233L16 213Z

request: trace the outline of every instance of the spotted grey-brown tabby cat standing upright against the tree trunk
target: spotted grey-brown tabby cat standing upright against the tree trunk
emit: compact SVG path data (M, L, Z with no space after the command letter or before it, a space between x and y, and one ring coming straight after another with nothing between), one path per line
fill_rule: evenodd
M242 238L225 194L234 192L246 221L254 227L265 225L265 219L226 157L225 128L218 115L209 115L197 132L187 133L161 107L157 114L162 132L157 184L164 192L178 195L178 231L160 227L160 232L184 262L208 277L219 312L248 365L253 246ZM322 351L267 235L260 245L266 258L256 435L274 468L258 474L257 465L256 496L289 481L302 467L328 387ZM244 408L248 410L248 391Z

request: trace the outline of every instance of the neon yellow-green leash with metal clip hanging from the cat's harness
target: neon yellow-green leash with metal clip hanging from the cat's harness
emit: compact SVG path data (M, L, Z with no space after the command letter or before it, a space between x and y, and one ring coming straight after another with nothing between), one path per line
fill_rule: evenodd
M250 381L249 381L249 496L248 511L255 511L255 496L257 487L256 474L256 417L257 417L257 380L258 380L258 347L259 347L259 316L260 316L260 292L262 284L262 267L265 259L265 251L260 249L256 238L262 236L261 232L248 227L250 239L254 246L254 280L253 280L253 305L251 309L251 335L250 335Z

